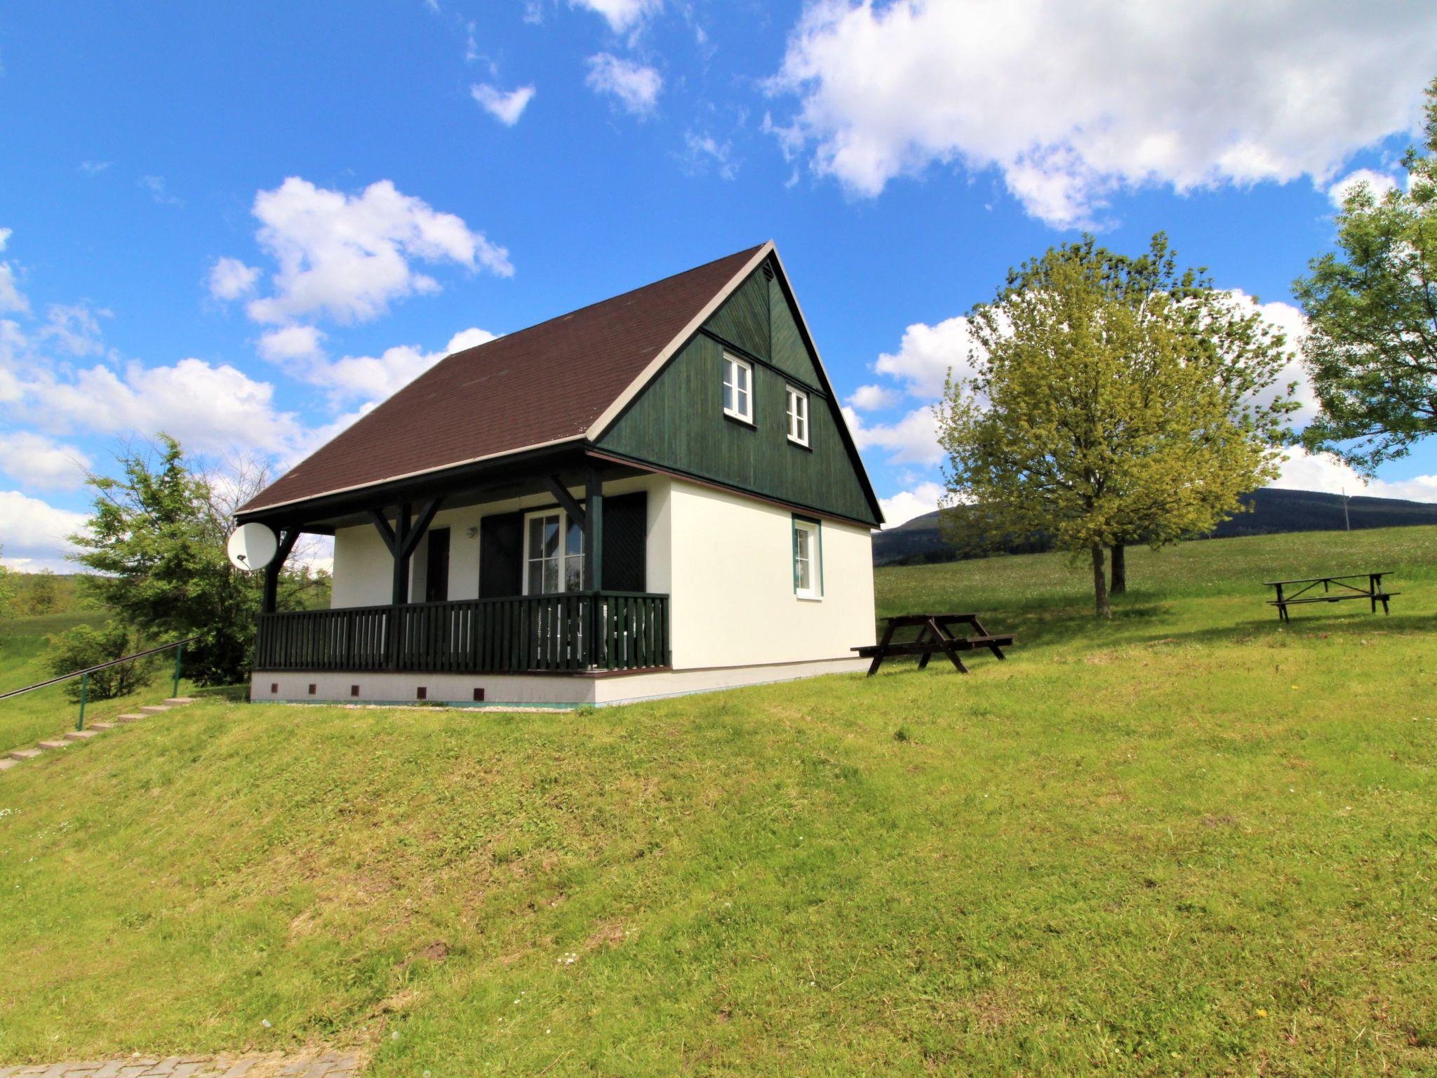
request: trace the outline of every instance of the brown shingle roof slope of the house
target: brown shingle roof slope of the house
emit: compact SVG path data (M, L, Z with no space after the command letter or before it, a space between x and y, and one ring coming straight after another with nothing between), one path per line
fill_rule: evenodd
M581 437L757 252L454 352L241 512Z

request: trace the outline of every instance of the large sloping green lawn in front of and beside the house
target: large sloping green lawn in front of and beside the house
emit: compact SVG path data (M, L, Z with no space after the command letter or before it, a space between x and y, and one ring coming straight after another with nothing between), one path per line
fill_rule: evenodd
M1260 581L1394 572L1394 614ZM884 569L1015 630L565 714L220 701L0 775L0 1064L1437 1072L1437 529Z

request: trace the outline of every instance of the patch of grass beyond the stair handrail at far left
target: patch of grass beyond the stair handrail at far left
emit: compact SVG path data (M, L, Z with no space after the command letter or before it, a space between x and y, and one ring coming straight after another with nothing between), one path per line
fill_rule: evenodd
M99 628L105 618L101 611L0 618L0 693L53 677L45 663L47 637L76 625ZM85 707L85 720L105 719L170 696L168 668L161 665L154 683L132 696L89 701ZM66 730L73 730L78 717L79 704L65 696L63 686L37 688L24 696L0 700L0 755L10 749L23 749L42 737L57 737Z

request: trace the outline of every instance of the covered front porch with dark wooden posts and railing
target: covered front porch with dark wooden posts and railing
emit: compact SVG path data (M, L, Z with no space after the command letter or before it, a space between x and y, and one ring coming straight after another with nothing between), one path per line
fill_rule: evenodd
M632 490L648 476L565 450L241 515L279 536L256 677L670 667L670 598L647 589L647 502ZM606 497L615 489L627 493ZM279 573L305 533L338 536L336 605L277 612ZM342 561L341 543L364 558Z

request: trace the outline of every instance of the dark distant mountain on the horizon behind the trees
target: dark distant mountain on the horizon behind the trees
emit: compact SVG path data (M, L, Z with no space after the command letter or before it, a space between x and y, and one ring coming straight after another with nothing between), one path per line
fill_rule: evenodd
M1265 487L1243 496L1250 507L1220 523L1204 539L1230 539L1236 535L1270 535L1275 532L1341 532L1346 528L1341 494L1319 494L1315 490L1275 490ZM1437 505L1404 502L1397 497L1348 499L1352 528L1401 528L1405 525L1437 525ZM1012 543L1009 553L1032 553L1046 549L1042 539ZM921 562L953 562L961 558L951 545L943 542L938 512L924 513L908 523L874 533L874 565L917 565Z

